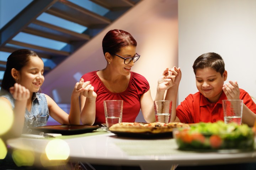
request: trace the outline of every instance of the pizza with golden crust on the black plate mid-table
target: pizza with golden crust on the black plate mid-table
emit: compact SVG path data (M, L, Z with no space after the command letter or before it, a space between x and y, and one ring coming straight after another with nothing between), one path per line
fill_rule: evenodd
M109 130L110 131L118 131L118 132L133 132L133 133L163 133L163 132L172 132L174 128L189 128L188 124L180 123L180 122L171 122L171 123L128 123L122 122L112 125Z

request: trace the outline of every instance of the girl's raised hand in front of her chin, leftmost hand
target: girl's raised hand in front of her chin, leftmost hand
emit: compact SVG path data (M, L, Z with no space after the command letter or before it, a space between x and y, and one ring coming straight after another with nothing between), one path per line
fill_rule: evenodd
M30 91L18 83L15 83L9 90L13 98L17 101L28 100L30 97Z

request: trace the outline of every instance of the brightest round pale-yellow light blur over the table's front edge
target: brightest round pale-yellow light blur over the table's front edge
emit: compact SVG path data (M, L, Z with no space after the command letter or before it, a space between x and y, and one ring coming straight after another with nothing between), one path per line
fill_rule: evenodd
M61 139L51 140L46 146L46 155L49 160L66 160L69 153L68 143Z

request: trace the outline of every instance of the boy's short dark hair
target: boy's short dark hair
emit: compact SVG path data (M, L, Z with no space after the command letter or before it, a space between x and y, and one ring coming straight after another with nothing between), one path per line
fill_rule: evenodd
M201 56L197 57L193 64L194 74L196 70L203 68L213 68L216 72L219 72L222 76L225 71L225 63L222 57L215 52L204 53Z

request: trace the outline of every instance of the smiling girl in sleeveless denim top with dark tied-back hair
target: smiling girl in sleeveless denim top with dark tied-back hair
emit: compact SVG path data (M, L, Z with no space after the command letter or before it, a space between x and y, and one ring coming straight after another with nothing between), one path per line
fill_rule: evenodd
M52 98L38 92L44 82L43 72L42 59L31 50L17 50L7 58L0 102L6 101L14 111L13 126L8 135L20 135L23 126L45 126L49 115L60 124L80 124L79 95L92 96L90 82L80 80L76 83L71 95L70 114L67 114Z

